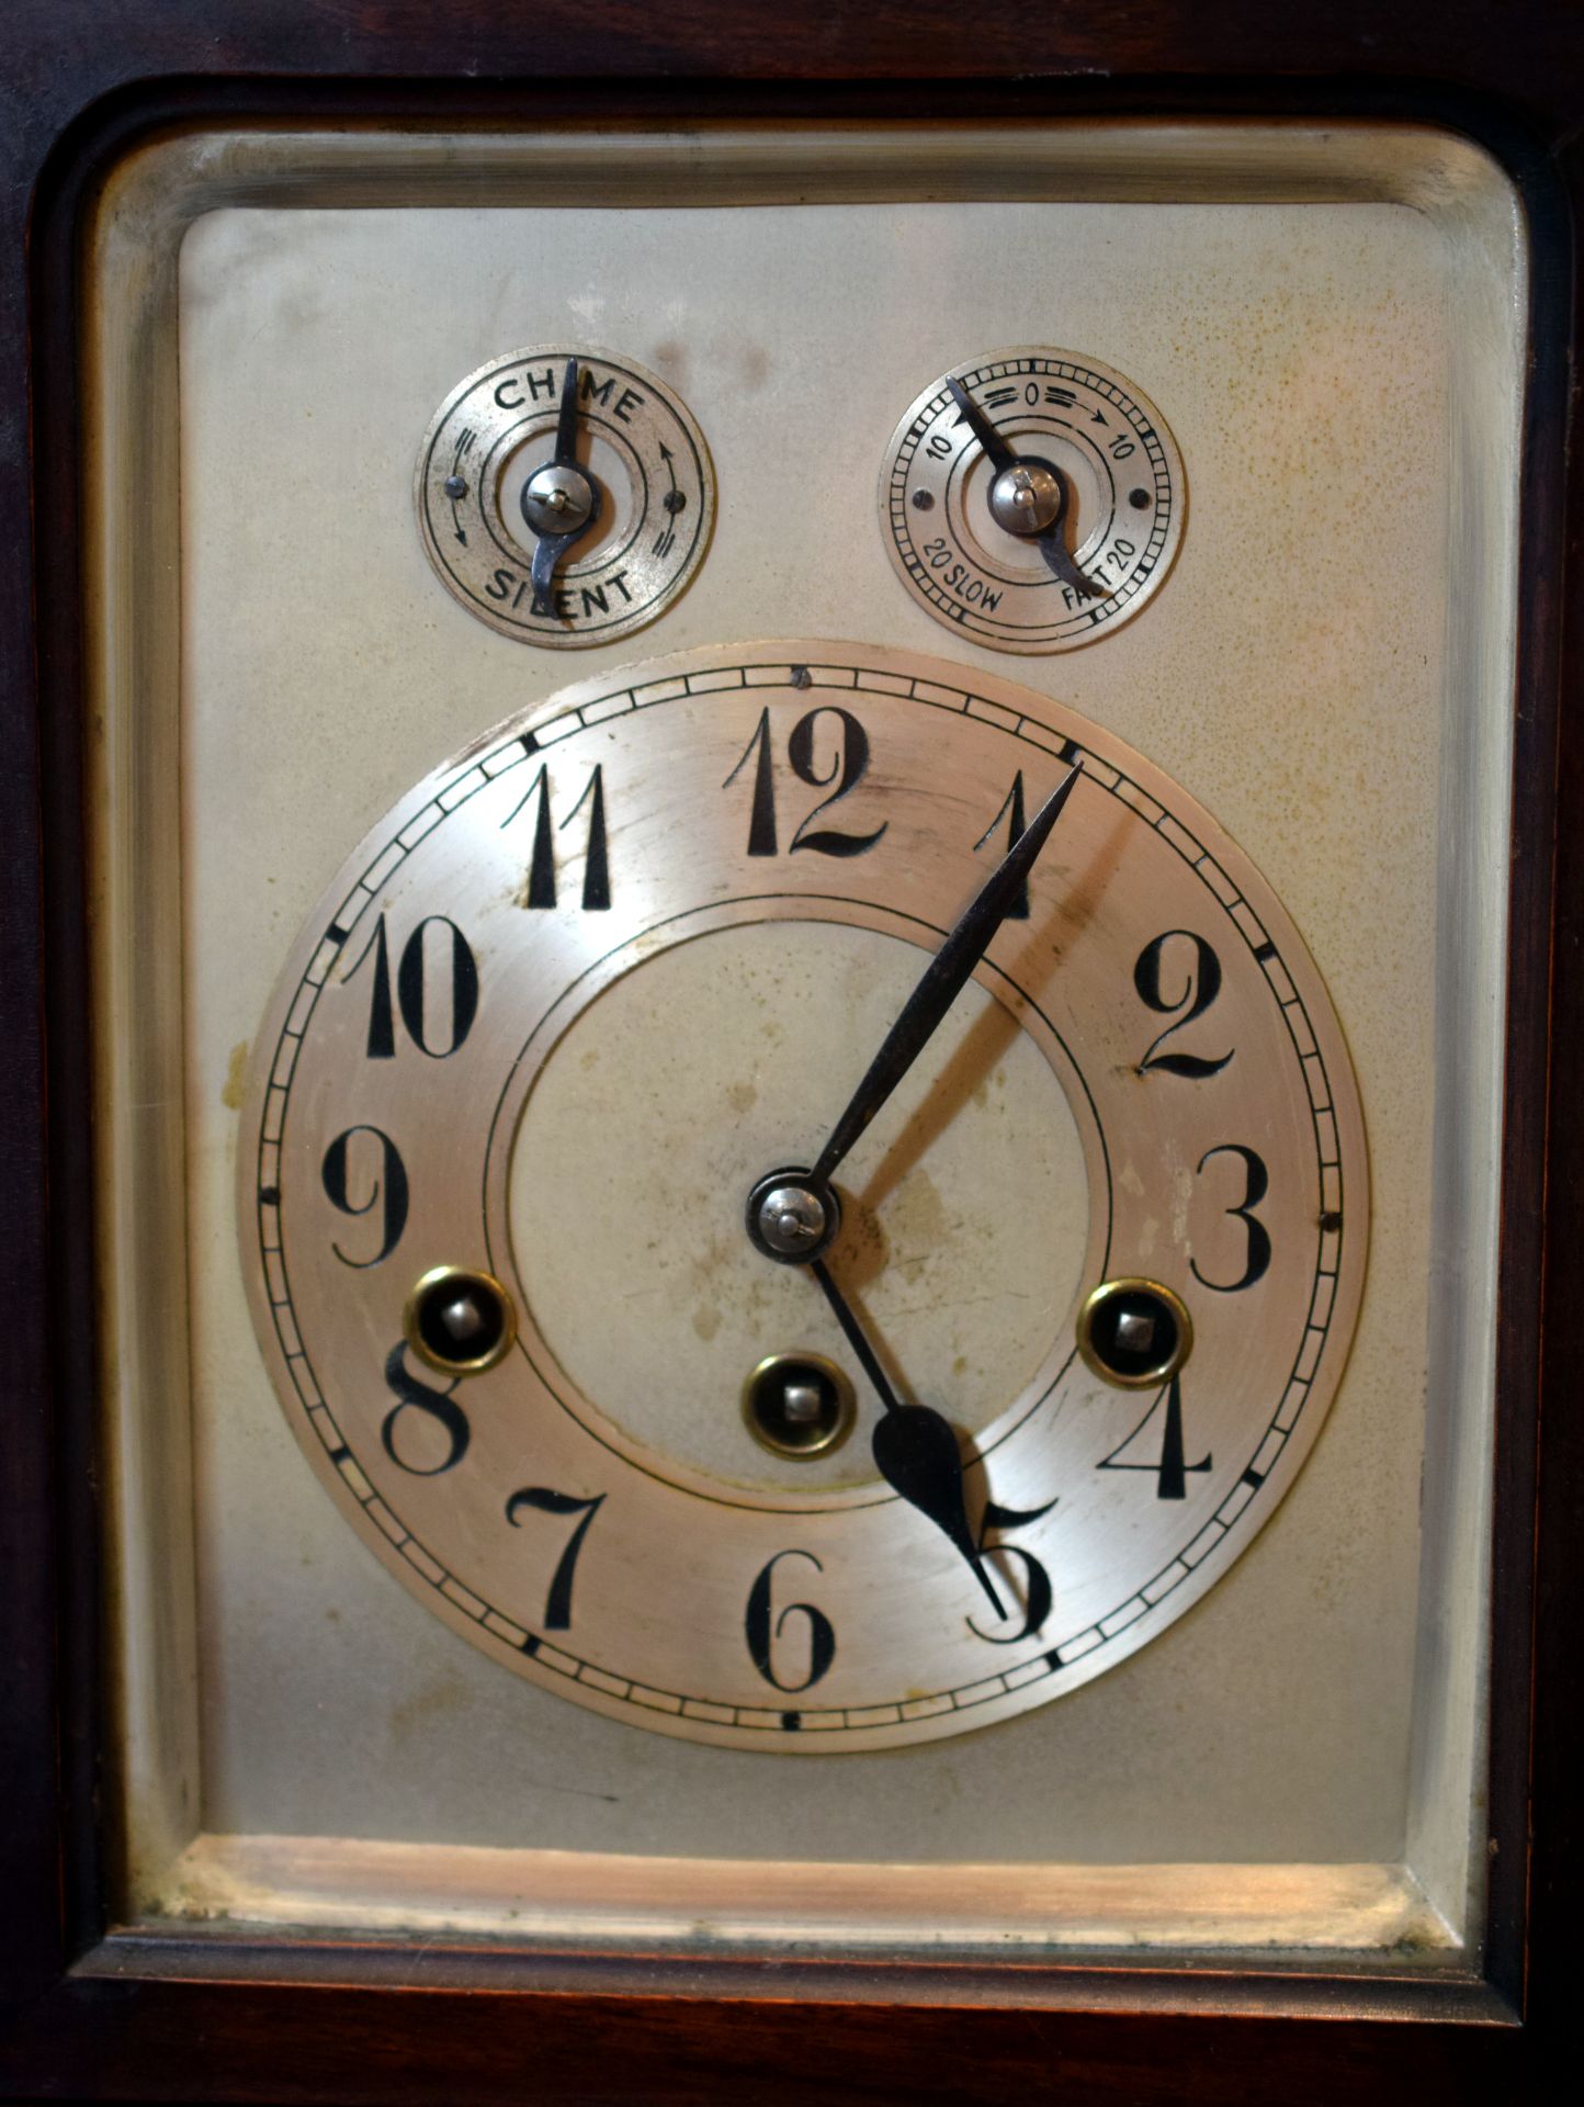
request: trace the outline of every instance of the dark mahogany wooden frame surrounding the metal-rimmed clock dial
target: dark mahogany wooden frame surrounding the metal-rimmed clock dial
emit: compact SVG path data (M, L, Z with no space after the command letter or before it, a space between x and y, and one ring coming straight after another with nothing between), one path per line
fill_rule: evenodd
M1544 2096L1580 1898L1584 17L1546 0L11 0L0 51L0 2092L74 2099ZM1481 1972L701 1964L466 1941L145 1938L105 1917L86 1045L78 234L190 122L1375 116L1464 131L1531 242ZM1571 622L1567 619L1571 613ZM1544 1435L1544 1456L1542 1456ZM1544 1460L1544 1469L1542 1469Z

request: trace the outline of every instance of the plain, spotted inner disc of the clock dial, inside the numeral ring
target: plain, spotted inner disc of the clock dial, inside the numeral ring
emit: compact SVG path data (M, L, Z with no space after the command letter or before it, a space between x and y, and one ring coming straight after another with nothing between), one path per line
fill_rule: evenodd
M522 1300L571 1384L655 1469L788 1494L878 1488L866 1429L880 1407L857 1367L859 1429L840 1448L790 1460L744 1424L765 1355L851 1353L807 1268L754 1252L741 1207L754 1176L817 1148L925 961L859 923L714 929L640 957L533 1081L508 1180ZM832 1268L916 1393L984 1433L1066 1342L1089 1188L1062 1083L979 982L836 1184Z

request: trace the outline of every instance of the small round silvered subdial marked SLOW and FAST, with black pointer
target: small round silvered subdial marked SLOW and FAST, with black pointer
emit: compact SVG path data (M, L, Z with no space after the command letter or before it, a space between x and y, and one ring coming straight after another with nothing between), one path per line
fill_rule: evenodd
M1093 358L1028 346L933 381L880 470L897 575L992 651L1070 651L1135 615L1171 569L1184 499L1146 394Z

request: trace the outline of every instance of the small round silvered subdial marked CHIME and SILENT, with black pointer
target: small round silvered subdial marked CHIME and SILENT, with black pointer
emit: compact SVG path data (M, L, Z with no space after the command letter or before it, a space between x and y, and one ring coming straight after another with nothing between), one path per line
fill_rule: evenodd
M704 560L714 472L687 405L592 346L493 358L440 405L417 516L447 590L552 651L655 622Z

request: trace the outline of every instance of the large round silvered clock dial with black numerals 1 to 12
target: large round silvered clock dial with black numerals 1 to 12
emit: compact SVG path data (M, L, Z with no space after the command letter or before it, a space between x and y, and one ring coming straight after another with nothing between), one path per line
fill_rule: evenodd
M836 1174L965 1555L744 1212L1074 765ZM571 687L373 828L257 1041L240 1233L305 1454L447 1622L636 1726L853 1751L1043 1705L1226 1572L1335 1393L1367 1167L1325 986L1177 784L1005 681L767 643ZM1175 1355L1095 1351L1129 1281Z

